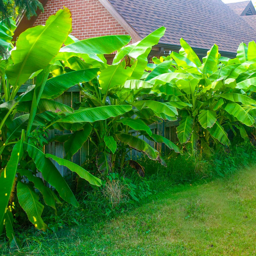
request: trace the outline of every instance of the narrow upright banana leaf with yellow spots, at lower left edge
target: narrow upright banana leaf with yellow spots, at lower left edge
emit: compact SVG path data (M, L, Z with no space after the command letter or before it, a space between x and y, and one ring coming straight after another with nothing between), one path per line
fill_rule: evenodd
M20 158L23 155L23 139L20 139L11 153L11 157L4 170L0 172L0 232L3 234L3 218L12 191L14 178Z

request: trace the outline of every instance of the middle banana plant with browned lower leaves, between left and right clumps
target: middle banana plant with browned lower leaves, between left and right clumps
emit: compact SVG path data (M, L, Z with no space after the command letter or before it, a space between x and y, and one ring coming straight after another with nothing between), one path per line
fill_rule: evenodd
M71 159L72 155L87 140L90 140L95 147L94 162L101 173L108 174L114 168L122 169L127 162L131 148L151 159L163 162L160 153L154 147L138 138L142 135L151 140L153 144L163 142L179 152L179 148L174 143L160 135L153 135L149 127L150 124L159 120L177 119L175 107L146 98L154 84L144 81L143 78L147 68L148 54L164 32L165 28L161 27L142 41L123 46L114 55L112 65L108 65L102 55L107 52L102 50L104 47L100 41L97 43L99 46L97 50L90 48L91 39L84 41L85 50L81 49L84 47L81 42L74 42L61 49L55 60L62 59L61 65L70 68L72 72L78 72L85 67L99 68L97 77L80 84L83 101L78 113L91 108L133 106L128 112L119 116L112 116L107 120L102 119L94 122L92 126L86 125L83 130L73 130L64 143L66 159ZM113 49L111 51L113 52ZM63 120L59 121L63 122ZM91 120L91 123L93 121ZM136 131L138 135L132 136L131 131Z

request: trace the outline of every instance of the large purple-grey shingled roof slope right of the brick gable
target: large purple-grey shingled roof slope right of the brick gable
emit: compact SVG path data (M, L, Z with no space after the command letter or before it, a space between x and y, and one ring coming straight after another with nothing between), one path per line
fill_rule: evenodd
M104 0L101 2L104 2ZM193 48L236 52L241 42L256 41L256 31L221 0L108 0L143 38L165 26L161 45L180 45L183 37Z

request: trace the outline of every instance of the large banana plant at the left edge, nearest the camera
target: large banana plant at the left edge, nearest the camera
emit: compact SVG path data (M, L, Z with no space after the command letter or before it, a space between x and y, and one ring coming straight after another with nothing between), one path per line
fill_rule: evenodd
M5 229L13 245L19 245L13 229L14 215L19 209L26 212L27 218L37 229L47 228L41 217L44 205L39 202L36 191L41 193L44 203L54 209L56 204L61 203L57 194L78 206L74 194L52 161L66 166L92 185L101 185L99 178L75 163L45 154L42 142L46 139L39 138L41 142L35 143L38 138L34 138L34 131L39 128L45 134L48 128L72 129L86 136L85 133L92 129L91 123L122 115L132 109L131 105L125 104L74 110L53 101L75 84L95 79L99 72L99 68L90 65L73 72L62 72L59 76L53 75L53 66L63 44L69 41L69 47L72 47L76 43L76 40L72 43L72 37L67 40L70 31L71 13L64 8L50 16L45 26L33 27L20 34L11 56L0 61L4 92L0 104L0 234ZM96 38L95 42L99 40L102 45L111 41L107 49L101 48L100 54L103 54L126 45L130 37L110 36ZM90 44L84 41L80 43L84 51L94 47L93 40ZM25 93L19 94L20 87L29 78L36 78L35 85L28 86ZM44 181L55 191L46 187Z

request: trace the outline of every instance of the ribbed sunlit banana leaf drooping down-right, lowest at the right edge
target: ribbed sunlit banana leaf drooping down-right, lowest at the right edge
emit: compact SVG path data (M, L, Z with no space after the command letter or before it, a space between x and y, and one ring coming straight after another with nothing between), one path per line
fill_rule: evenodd
M227 113L236 117L241 123L252 126L254 124L254 118L246 112L239 104L235 102L229 102L224 108Z

